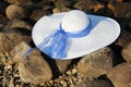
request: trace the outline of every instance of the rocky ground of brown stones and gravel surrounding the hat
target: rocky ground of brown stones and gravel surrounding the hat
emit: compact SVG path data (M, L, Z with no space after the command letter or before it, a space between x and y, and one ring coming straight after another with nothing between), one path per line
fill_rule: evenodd
M120 37L67 61L31 49L32 28L41 16L74 9L115 18ZM131 87L130 52L130 0L0 0L0 87Z

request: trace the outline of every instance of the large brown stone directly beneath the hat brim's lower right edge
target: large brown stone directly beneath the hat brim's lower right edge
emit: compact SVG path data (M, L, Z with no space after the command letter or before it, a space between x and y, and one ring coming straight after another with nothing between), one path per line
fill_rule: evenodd
M112 69L112 50L103 48L83 57L78 63L78 72L85 77L94 78L107 74Z

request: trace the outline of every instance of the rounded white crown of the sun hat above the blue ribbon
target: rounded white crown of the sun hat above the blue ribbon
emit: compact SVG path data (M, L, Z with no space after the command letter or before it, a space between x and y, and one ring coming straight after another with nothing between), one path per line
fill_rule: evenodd
M64 32L75 33L85 29L90 24L87 14L80 10L68 12L62 21L61 27Z

